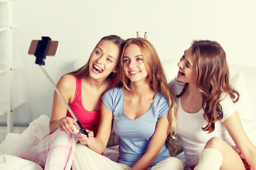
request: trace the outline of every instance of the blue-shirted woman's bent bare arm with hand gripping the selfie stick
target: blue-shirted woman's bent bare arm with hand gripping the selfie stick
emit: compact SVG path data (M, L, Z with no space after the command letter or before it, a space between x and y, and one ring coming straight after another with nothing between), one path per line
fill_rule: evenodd
M78 139L83 145L87 145L93 151L101 154L104 152L105 148L107 147L107 142L110 138L110 132L112 128L112 112L108 110L105 104L102 101L101 104L101 111L100 111L100 125L97 130L96 137L93 137L92 132L89 132L89 136L86 137L82 135L80 132L78 133Z

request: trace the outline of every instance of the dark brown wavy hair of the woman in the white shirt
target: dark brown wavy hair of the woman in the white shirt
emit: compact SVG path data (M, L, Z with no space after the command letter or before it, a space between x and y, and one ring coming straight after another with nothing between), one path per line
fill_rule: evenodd
M196 69L196 85L203 98L203 118L207 121L206 127L202 130L213 132L215 122L223 118L220 101L230 96L233 103L236 103L240 95L229 83L230 73L223 47L218 42L210 40L194 40L191 46L193 66ZM178 97L187 86L186 83Z

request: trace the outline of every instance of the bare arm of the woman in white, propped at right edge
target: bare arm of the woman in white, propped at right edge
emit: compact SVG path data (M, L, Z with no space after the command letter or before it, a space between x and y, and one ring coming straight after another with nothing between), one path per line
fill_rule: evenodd
M245 130L242 128L238 112L236 111L224 121L225 128L228 130L235 145L238 146L247 162L256 169L256 147L250 142Z

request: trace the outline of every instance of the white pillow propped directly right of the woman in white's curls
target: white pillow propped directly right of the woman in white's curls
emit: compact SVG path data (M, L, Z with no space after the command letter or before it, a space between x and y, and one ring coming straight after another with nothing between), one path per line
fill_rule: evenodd
M245 85L245 79L243 72L238 72L230 79L230 84L239 92L240 99L235 105L238 108L238 113L241 119L252 120L255 116L252 116L252 110L250 108L250 100ZM255 119L256 120L256 119Z

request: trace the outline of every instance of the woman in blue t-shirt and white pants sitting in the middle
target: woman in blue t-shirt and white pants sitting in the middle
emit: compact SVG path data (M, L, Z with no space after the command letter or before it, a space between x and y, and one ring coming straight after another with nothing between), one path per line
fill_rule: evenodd
M159 56L148 40L125 41L118 78L117 87L102 97L96 137L78 134L83 145L76 146L74 169L183 169L181 161L170 157L166 148L166 138L176 125L174 97ZM169 117L173 118L171 123ZM117 162L100 155L112 127L119 136Z

